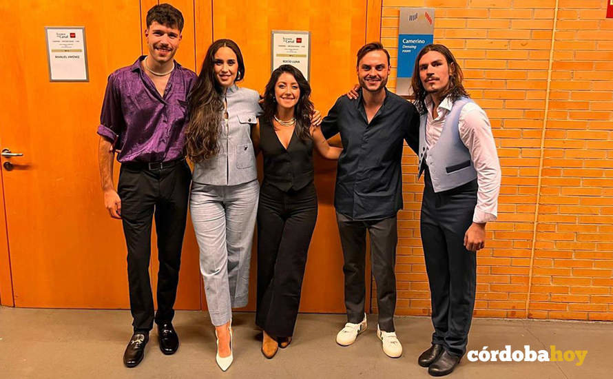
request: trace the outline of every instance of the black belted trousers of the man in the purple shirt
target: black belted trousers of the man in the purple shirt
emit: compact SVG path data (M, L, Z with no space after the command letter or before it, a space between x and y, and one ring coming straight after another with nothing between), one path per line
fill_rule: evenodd
M127 278L134 331L149 331L154 319L161 324L174 317L190 183L191 170L185 161L161 170L121 165L118 194L127 245ZM149 280L154 216L160 262L155 316Z

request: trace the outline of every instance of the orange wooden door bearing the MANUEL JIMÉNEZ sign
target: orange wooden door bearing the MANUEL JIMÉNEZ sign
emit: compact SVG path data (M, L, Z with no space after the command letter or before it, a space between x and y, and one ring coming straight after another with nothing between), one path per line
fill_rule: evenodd
M10 158L14 170L2 169L8 236L8 242L0 239L3 304L10 305L10 289L18 307L129 307L125 242L121 222L103 207L96 127L107 76L141 54L141 14L141 4L133 0L0 5L14 38L10 52L0 56L7 73L0 147L24 154ZM184 14L191 37L178 57L193 68L193 8ZM89 82L49 81L44 27L62 25L85 26ZM200 308L193 245L186 238L178 309ZM155 262L155 249L152 257Z

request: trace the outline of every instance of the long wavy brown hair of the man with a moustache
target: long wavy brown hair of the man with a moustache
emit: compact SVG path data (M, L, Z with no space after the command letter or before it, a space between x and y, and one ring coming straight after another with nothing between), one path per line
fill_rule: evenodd
M413 87L413 92L415 93L415 107L417 107L417 111L419 111L420 114L424 114L428 111L426 109L426 96L428 92L426 92L422 79L419 77L419 59L422 59L426 53L431 51L441 53L449 66L449 85L447 90L441 94L441 100L445 99L447 96L449 96L452 101L456 101L461 97L469 97L468 92L464 90L464 85L462 85L464 74L462 74L462 69L459 64L457 64L453 54L451 54L450 50L444 45L430 43L430 45L424 46L422 51L417 54L415 68L413 68L413 78L411 78L411 87Z

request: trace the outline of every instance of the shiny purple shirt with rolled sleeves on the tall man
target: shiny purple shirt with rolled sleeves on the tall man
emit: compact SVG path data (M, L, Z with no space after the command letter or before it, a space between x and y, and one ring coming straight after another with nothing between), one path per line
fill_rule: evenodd
M196 74L176 63L164 96L143 72L140 57L109 76L98 134L113 141L117 161L164 162L185 156L187 94Z

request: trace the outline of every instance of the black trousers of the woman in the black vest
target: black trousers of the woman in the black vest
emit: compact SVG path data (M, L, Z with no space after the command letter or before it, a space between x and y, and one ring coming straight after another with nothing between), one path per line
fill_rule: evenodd
M258 205L258 303L256 325L291 337L300 307L306 253L317 221L311 183L283 192L264 182Z

